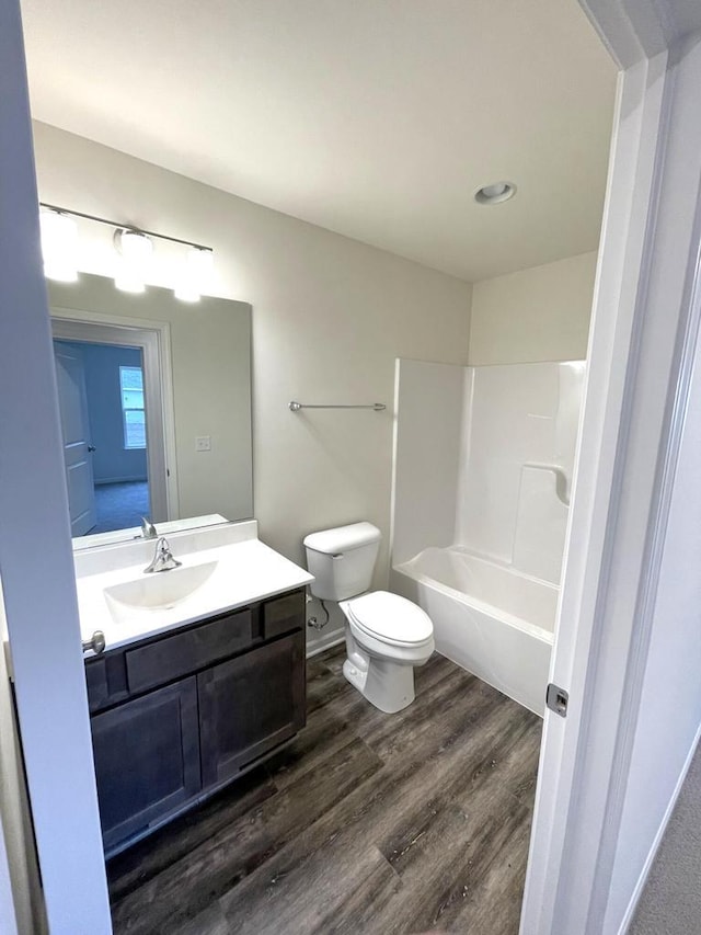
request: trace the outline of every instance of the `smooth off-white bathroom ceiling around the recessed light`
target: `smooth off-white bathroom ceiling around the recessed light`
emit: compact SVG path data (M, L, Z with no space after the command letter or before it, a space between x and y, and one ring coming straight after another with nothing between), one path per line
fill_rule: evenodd
M597 247L616 69L576 0L22 9L39 121L468 281Z

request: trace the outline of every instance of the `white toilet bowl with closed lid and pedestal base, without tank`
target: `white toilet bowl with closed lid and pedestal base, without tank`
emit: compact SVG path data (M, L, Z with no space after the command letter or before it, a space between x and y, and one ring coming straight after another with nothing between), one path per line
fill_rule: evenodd
M397 714L414 700L414 666L434 651L434 628L421 607L387 591L338 605L346 623L343 674L368 702Z

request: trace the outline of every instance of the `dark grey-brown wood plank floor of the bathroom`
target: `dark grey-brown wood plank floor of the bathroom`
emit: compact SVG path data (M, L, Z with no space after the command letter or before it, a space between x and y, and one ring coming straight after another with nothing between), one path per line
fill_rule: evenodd
M108 863L116 935L518 932L540 718L437 654L383 715L343 659L286 749Z

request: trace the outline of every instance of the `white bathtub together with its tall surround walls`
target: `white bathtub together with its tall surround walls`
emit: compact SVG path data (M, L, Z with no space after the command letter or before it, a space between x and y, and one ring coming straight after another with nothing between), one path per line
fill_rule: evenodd
M398 361L390 588L543 714L585 363Z

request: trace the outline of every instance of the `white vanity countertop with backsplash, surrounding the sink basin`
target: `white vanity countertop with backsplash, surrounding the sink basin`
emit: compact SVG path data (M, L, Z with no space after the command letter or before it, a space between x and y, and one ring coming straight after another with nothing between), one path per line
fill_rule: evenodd
M228 523L169 534L182 569L214 565L210 575L189 596L173 606L154 609L122 607L115 619L105 589L128 582L158 584L156 578L173 572L145 573L153 558L157 539L140 539L99 547L74 555L78 606L82 638L95 630L105 636L106 649L116 649L169 629L186 626L214 614L232 611L313 580L304 569L268 548L257 538L257 523ZM114 603L113 603L114 607ZM89 657L92 655L89 652Z

